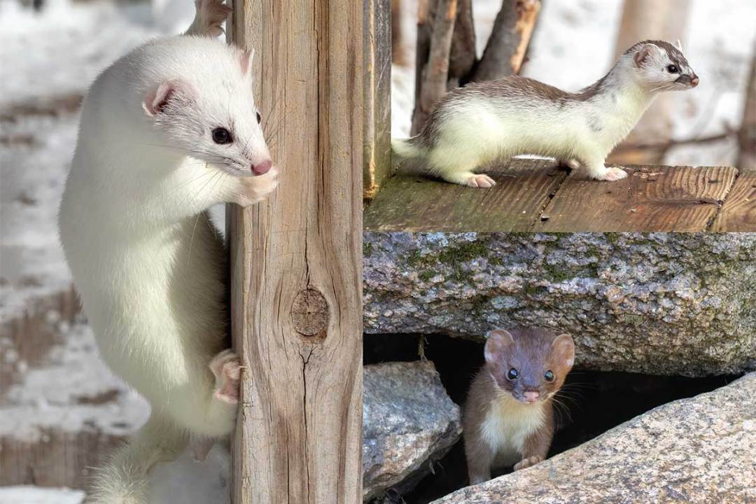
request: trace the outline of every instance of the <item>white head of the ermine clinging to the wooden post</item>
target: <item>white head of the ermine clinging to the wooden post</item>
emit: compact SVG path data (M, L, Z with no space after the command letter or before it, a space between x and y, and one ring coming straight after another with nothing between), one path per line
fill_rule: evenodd
M156 83L142 108L160 135L187 156L231 175L263 175L272 162L253 99L253 54L237 48L228 54L231 64L208 63Z

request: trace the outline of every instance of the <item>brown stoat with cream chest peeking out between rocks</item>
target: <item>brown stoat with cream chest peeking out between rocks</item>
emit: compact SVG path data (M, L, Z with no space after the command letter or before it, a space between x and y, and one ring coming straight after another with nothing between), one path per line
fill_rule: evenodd
M462 415L470 484L491 479L491 468L518 471L546 458L554 434L552 397L572 369L575 343L544 329L495 329L484 354Z

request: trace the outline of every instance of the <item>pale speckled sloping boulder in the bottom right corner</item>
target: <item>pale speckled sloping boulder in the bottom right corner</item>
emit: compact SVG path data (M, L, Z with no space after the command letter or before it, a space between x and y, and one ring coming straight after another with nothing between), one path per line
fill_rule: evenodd
M756 502L756 373L434 504Z

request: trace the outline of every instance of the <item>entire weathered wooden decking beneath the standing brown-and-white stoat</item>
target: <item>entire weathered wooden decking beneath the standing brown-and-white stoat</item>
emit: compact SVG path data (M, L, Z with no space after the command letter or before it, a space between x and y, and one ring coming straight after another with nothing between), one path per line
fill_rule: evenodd
M485 171L492 189L474 189L401 175L402 167L365 207L371 231L686 232L711 230L720 212L727 223L753 230L747 183L733 193L729 167L631 166L627 179L600 182L554 162L516 159ZM414 167L419 172L418 167ZM741 186L739 186L741 187ZM729 203L729 197L737 202ZM725 221L721 221L725 222ZM720 227L723 229L723 227Z

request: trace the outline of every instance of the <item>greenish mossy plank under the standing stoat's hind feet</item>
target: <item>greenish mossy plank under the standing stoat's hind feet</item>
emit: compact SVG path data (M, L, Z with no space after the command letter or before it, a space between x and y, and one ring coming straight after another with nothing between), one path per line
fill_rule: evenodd
M516 159L485 170L497 182L473 189L422 175L395 175L367 206L370 231L528 231L567 176L553 161Z

